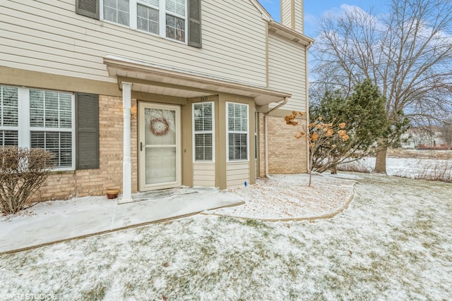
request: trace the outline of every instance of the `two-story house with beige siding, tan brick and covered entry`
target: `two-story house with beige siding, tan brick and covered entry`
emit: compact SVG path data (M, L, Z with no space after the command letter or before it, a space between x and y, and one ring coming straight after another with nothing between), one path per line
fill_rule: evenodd
M43 147L42 199L307 171L303 1L1 1L1 145Z

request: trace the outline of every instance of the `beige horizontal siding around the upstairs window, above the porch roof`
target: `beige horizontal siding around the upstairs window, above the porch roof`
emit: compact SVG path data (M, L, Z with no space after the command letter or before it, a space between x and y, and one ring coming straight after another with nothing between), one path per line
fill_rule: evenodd
M107 54L266 85L266 23L250 1L203 1L203 49L75 13L75 0L2 2L0 65L113 82ZM234 12L240 12L236 16Z

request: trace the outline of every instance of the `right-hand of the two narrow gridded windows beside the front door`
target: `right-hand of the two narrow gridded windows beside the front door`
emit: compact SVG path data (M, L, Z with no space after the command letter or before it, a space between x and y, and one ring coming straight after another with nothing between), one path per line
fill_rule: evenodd
M227 103L227 158L248 159L248 105Z

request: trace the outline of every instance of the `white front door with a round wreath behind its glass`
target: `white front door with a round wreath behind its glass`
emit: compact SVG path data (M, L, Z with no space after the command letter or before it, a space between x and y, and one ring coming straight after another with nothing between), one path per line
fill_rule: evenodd
M138 104L140 191L181 185L180 107Z

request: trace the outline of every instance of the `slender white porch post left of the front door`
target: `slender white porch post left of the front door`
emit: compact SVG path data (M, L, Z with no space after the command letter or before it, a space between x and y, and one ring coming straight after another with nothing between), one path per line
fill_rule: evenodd
M122 164L122 199L132 200L132 161L131 161L131 82L122 82L122 109L124 114L124 158Z

